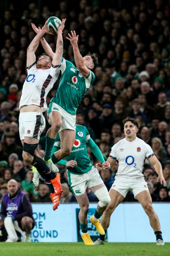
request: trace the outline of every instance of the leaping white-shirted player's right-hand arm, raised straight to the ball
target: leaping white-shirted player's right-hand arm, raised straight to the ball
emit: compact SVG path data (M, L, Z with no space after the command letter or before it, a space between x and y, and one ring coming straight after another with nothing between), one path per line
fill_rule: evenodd
M61 64L62 54L63 54L62 31L64 29L65 21L66 21L66 19L62 19L61 25L58 28L56 50L55 50L55 54L52 59L52 65L60 65Z

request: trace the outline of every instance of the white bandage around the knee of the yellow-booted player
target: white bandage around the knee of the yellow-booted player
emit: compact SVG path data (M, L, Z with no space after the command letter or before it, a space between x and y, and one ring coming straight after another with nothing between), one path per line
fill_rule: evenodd
M94 194L99 199L100 207L107 207L110 204L111 199L109 196L109 192L105 186L96 190Z

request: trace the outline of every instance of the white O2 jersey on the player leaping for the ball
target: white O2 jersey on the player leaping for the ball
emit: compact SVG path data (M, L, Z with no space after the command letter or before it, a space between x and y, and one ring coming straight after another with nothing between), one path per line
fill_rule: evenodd
M42 112L47 110L46 96L57 80L61 65L49 69L37 69L36 62L27 67L28 76L24 82L19 108L23 105L37 105Z

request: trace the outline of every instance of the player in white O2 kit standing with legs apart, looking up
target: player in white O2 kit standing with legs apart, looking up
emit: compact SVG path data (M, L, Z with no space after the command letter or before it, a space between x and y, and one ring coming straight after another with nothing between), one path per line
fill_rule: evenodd
M160 181L163 186L166 186L166 181L162 174L160 162L153 154L151 147L143 140L136 137L138 131L138 123L135 119L127 117L123 120L125 138L116 143L111 150L107 162L111 168L116 161L119 163L115 181L109 191L111 202L102 215L101 225L105 233L110 225L110 217L116 207L124 200L128 191L132 191L134 197L142 205L144 211L149 217L149 222L156 236L156 245L164 245L162 232L160 228L159 218L152 206L152 199L145 182L143 172L143 164L147 158L150 164L155 168L158 174L157 182ZM98 170L102 170L104 166L97 164ZM100 235L100 238L94 244L104 244L105 236Z

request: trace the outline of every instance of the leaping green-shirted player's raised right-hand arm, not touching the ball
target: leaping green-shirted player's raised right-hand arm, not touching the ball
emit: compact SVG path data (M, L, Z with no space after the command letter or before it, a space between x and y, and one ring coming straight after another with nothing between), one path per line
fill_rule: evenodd
M73 47L74 60L75 60L76 67L78 68L78 70L80 71L83 77L87 77L89 74L89 69L85 66L83 57L81 56L78 48L78 44L77 44L78 35L76 35L75 31L71 31L71 35L68 34L68 36L69 37L66 37L66 38L70 41Z

